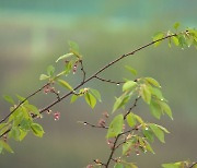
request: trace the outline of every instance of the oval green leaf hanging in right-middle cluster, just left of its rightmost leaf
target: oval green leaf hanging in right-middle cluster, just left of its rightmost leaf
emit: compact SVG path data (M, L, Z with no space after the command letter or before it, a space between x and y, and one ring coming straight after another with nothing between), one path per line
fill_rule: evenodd
M152 116L155 117L157 119L160 119L162 115L162 109L160 107L160 104L157 100L152 99L149 107Z

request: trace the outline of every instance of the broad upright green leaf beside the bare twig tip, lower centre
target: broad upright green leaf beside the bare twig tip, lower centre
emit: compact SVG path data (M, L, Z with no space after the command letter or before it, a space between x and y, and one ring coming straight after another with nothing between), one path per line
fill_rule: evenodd
M123 131L124 116L116 116L109 124L106 137L115 137Z

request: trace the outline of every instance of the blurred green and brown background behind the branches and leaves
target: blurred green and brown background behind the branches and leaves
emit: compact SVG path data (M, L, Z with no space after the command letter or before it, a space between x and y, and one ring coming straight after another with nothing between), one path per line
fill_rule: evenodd
M197 27L196 0L0 0L0 95L28 95L43 85L38 77L48 64L68 51L68 40L79 44L85 71L91 75L121 53L151 40L158 31L167 31L175 22ZM183 26L184 27L184 26ZM131 77L124 65L138 70L139 76L155 77L172 107L174 121L154 120L146 105L135 109L144 120L166 127L166 143L153 144L155 155L132 155L129 159L140 168L159 168L162 163L197 159L197 51L169 48L166 43L150 47L127 58L102 76L120 81ZM81 74L69 76L72 84ZM22 143L12 142L14 154L0 156L0 168L81 168L95 158L106 159L109 149L105 131L83 127L77 121L96 123L103 111L112 110L120 86L92 81L85 86L102 93L103 103L92 111L83 100L73 105L63 100L53 110L60 111L59 121L45 115L45 135L28 135ZM62 93L63 94L63 91ZM40 94L31 103L43 107L53 95ZM0 100L0 118L9 105Z

